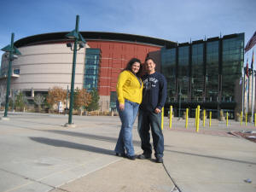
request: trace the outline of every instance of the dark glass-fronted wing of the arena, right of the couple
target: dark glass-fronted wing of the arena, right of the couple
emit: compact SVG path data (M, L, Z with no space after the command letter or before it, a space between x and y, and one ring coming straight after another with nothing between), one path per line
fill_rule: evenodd
M160 51L161 71L168 82L166 106L172 105L175 113L181 102L181 111L191 108L241 111L242 70L244 63L244 33L223 38L207 38Z

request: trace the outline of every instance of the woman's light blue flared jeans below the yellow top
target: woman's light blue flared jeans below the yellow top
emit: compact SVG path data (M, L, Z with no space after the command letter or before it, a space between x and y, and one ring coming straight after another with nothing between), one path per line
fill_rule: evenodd
M119 154L126 154L128 156L134 155L134 148L132 143L132 126L137 116L139 104L125 100L125 109L119 110L119 102L116 102L116 107L119 112L119 118L122 126L119 132L119 138L114 148L114 151Z

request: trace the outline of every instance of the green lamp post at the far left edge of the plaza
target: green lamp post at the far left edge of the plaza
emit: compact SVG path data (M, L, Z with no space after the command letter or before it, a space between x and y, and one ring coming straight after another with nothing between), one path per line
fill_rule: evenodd
M8 119L7 113L9 108L9 87L10 87L10 79L11 79L11 73L12 73L12 61L17 59L18 55L21 55L20 51L14 46L14 39L15 39L15 33L12 33L11 44L1 49L6 53L8 53L8 59L9 59L8 78L6 83L5 109L4 109L4 115L2 119Z

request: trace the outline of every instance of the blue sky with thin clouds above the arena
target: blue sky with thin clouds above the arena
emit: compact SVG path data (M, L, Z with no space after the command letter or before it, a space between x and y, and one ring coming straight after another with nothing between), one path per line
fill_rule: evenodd
M1 2L0 48L10 44L11 32L18 40L72 31L76 15L80 31L124 32L178 43L245 32L247 44L256 31L255 8L256 0L6 0Z

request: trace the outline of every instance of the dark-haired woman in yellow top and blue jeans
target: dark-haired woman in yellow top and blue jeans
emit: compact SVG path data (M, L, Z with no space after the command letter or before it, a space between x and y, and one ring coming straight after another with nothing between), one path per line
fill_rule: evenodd
M127 157L130 160L136 159L131 131L137 117L139 104L143 99L143 81L140 78L142 70L141 61L132 58L119 74L116 85L118 96L116 107L122 126L114 151L117 156Z

